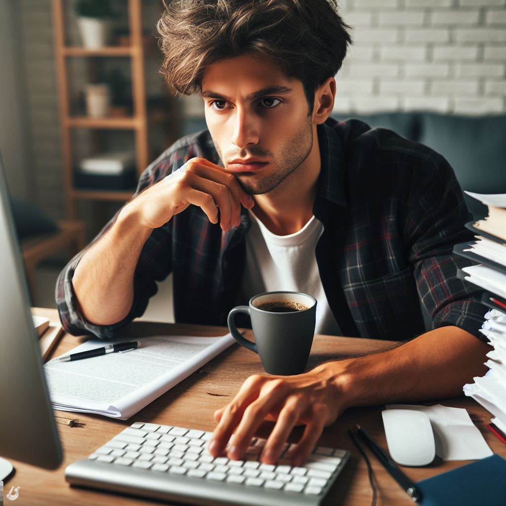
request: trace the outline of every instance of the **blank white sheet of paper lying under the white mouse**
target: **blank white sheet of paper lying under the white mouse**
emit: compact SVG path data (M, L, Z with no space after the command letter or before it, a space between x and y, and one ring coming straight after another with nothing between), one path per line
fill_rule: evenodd
M436 454L443 460L472 460L493 454L466 409L441 404L389 404L386 408L414 409L426 413L434 431Z

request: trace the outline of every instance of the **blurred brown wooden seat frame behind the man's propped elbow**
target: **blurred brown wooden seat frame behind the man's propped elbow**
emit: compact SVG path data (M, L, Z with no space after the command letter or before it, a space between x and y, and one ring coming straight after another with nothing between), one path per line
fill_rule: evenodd
M59 220L59 231L53 234L36 235L21 243L26 276L32 299L35 295L35 269L37 265L62 248L69 248L70 258L86 246L85 223L79 220Z

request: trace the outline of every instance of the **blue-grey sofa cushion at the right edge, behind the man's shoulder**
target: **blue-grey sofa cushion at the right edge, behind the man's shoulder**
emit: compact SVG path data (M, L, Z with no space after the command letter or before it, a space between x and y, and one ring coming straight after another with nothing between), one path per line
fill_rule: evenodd
M419 142L448 160L462 190L506 193L506 114L421 114ZM481 202L465 198L475 219L487 215Z

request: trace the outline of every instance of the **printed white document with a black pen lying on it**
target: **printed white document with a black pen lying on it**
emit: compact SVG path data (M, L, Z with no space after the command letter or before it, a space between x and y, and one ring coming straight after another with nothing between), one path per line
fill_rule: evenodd
M153 336L143 338L142 347L127 353L72 362L52 360L45 372L53 406L130 418L234 342L230 334ZM105 344L90 340L71 352Z

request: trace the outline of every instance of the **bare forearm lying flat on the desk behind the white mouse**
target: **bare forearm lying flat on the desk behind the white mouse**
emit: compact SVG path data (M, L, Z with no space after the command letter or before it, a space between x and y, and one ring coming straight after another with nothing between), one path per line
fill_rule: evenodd
M431 330L397 348L319 366L346 407L415 402L462 395L487 368L490 346L455 326Z

